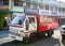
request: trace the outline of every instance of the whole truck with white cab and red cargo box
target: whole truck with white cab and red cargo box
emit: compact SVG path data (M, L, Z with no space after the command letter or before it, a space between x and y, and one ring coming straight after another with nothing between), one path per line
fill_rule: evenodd
M25 14L16 16L10 25L10 36L17 41L34 42L39 36L51 37L58 27L58 16Z

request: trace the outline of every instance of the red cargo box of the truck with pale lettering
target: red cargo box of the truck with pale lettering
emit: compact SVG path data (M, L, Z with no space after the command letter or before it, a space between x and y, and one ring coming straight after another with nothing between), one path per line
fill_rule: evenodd
M42 15L35 15L37 17L37 26L38 32L43 32L48 30L53 30L58 27L58 18L57 16L42 16Z

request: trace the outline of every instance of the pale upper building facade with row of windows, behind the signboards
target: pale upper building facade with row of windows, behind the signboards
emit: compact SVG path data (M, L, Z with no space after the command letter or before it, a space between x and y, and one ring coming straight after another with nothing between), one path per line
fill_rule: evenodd
M26 7L54 11L60 14L60 25L65 24L65 3L56 0L26 0Z

